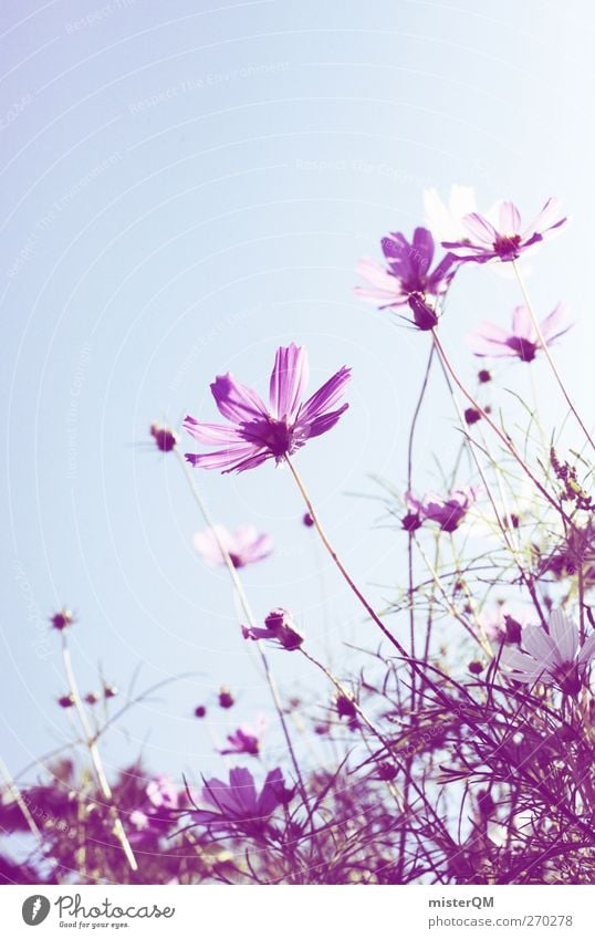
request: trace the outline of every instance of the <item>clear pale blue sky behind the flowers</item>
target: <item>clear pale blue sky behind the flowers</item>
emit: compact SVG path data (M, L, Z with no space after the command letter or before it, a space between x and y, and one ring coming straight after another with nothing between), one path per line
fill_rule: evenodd
M593 6L6 0L0 19L0 751L18 773L70 739L46 624L65 604L84 690L100 664L121 689L138 666L138 690L194 672L114 728L108 768L142 752L154 770L209 772L221 759L195 706L232 687L234 711L210 707L221 739L269 703L227 577L192 550L180 467L144 446L150 422L216 419L208 384L228 369L264 393L282 343L307 345L312 388L352 365L351 409L299 465L357 580L378 604L394 595L404 536L353 493L377 493L372 473L404 486L428 337L353 296L355 263L422 221L426 186L473 185L486 208L513 198L528 220L562 197L572 226L530 283L542 315L571 303L557 361L591 404ZM442 336L470 380L466 332L507 323L518 302L484 270L457 280ZM505 384L524 394L523 368ZM534 368L555 420L556 389ZM448 462L452 427L434 383L419 489L437 483L431 452ZM342 640L373 641L326 561L322 604L322 555L285 471L197 482L220 522L275 538L246 574L259 616L291 608L338 662ZM298 656L272 661L285 692L316 684Z

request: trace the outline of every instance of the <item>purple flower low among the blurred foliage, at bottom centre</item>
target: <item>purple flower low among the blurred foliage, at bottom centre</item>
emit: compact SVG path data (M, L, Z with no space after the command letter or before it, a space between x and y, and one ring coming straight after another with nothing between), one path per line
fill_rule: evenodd
M283 772L271 770L267 774L260 794L257 793L254 779L249 770L237 766L229 771L229 783L218 779L207 780L202 790L202 801L212 810L197 810L192 813L197 822L226 827L229 823L243 822L258 827L263 826L275 808L289 801L291 793L285 789Z

